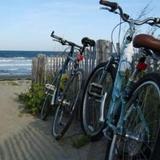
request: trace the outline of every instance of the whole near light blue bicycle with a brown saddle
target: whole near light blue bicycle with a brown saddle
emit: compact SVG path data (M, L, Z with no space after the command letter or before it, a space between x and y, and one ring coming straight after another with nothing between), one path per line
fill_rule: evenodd
M137 25L159 27L160 18L134 20L115 2L101 0L100 4L120 15L129 29L120 53L98 65L86 83L81 113L83 130L93 139L103 134L107 137L106 160L155 159L154 151L160 148L156 146L160 140L160 74L140 75L148 68L147 57L160 59L160 40L134 34ZM126 48L132 42L141 55L133 71L126 57Z

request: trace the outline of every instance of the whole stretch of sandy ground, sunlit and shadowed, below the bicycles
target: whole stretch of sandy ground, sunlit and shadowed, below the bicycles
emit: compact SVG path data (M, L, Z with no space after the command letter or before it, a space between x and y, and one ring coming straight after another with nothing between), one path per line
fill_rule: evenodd
M50 133L50 121L43 122L19 112L16 101L29 87L0 82L0 160L103 160L103 141L90 143L81 149L72 147L73 132L57 142ZM72 128L74 125L72 126Z

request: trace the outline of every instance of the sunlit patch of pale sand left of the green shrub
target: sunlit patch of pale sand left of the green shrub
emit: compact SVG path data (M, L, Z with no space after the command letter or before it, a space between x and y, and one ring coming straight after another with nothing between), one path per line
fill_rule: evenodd
M13 134L25 123L32 120L27 115L21 118L20 105L17 102L18 94L30 87L28 80L0 81L0 138ZM28 116L30 118L28 118Z

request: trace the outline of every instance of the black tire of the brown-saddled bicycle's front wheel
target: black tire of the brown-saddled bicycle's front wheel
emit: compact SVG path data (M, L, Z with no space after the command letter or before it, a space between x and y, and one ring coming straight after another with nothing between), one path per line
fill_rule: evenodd
M92 116L92 112L94 112L92 110L92 108L94 108L94 106L96 105L96 101L97 99L95 97L91 97L89 95L89 86L90 84L92 84L93 82L94 83L98 83L98 76L102 74L102 71L104 70L104 67L107 65L107 62L105 63L101 63L99 64L93 71L92 73L90 74L87 82L86 82L86 86L84 88L84 93L83 93L83 98L82 98L82 107L81 107L81 126L82 126L82 129L84 131L84 133L89 136L91 138L91 140L98 140L102 137L103 133L102 133L102 130L104 128L104 123L100 122L99 123L99 117L96 119L96 123L99 125L97 128L94 126L91 126L91 124L89 124L89 118L88 117L91 117L94 121L94 118L95 118L95 115L98 114L98 113L93 113L94 115ZM105 79L106 80L106 83L103 81L103 84L101 84L103 86L103 94L104 92L106 91L106 88L108 87L108 82L107 80L109 80L109 83L112 84L110 85L110 90L108 91L108 95L107 95L107 98L106 98L106 103L105 103L105 109L107 109L107 106L109 105L109 99L111 98L111 92L112 92L112 88L113 88L113 82L114 82L114 79L115 79L115 68L110 65L107 69L107 76L110 78L110 79ZM95 79L94 79L95 78ZM108 87L109 88L109 87ZM89 100L90 99L90 100ZM89 102L89 104L88 104ZM98 107L100 106L100 103L98 103L97 105ZM97 107L97 108L98 108ZM99 107L100 108L100 107ZM105 112L106 113L106 112ZM88 120L87 120L88 119ZM91 120L92 120L91 119ZM88 122L87 122L88 121ZM92 122L91 122L92 123ZM97 125L95 123L95 126ZM89 129L89 127L92 127L93 128L93 132ZM90 127L90 128L91 128Z

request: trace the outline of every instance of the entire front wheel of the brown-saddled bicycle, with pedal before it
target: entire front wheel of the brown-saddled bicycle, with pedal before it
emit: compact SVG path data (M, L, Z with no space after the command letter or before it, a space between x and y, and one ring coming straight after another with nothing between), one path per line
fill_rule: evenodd
M106 65L107 63L102 63L93 70L83 93L82 128L92 140L97 140L103 135L102 129L104 128L104 123L100 122L102 98L107 93L104 111L106 114L113 88L115 77L115 69L113 67L109 67L105 77L102 78ZM103 79L101 80L102 82L100 82L101 78Z

